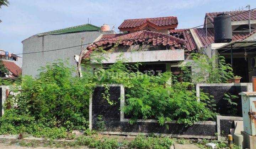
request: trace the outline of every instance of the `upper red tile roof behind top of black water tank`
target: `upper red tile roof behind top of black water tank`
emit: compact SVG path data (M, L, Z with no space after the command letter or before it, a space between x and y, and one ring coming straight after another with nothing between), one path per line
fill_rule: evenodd
M245 10L246 11L246 10ZM206 13L206 17L209 17L210 22L213 22L213 18L216 17L220 13L227 13L231 16L231 21L242 21L242 20L249 20L249 11L226 11L226 12L210 12ZM244 12L244 13L242 13ZM240 14L239 14L240 13ZM251 20L256 19L256 10L251 10Z

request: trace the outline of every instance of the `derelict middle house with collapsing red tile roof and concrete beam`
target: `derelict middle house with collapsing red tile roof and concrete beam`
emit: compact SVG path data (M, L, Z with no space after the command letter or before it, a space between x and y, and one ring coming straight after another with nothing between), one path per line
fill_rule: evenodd
M110 57L102 61L108 67L113 64L116 57L123 54L123 58L128 63L142 63L139 71L147 73L151 71L153 75L159 72L172 71L172 66L177 66L180 61L187 58L187 53L193 48L186 46L186 40L170 35L170 30L174 30L178 25L177 17L159 17L124 20L118 27L126 34L103 35L101 39L87 46L87 53L83 56L86 60L93 50L98 47L110 50L115 43L119 45L111 53L104 55ZM187 34L185 35L187 37ZM193 43L191 43L192 46ZM93 61L92 61L93 62Z

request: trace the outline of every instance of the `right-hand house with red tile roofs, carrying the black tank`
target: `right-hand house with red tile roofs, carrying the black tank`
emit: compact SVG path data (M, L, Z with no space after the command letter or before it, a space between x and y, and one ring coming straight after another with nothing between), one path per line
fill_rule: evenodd
M244 12L244 13L241 13ZM233 67L233 72L241 76L241 82L253 82L256 76L256 10L250 12L224 12L231 17L232 41L230 43L214 43L213 18L223 12L206 13L204 28L193 29L198 47L207 47L204 52L209 56L220 54ZM251 26L251 27L249 27ZM207 37L206 37L207 27ZM251 33L249 28L251 28ZM254 84L256 86L256 84Z

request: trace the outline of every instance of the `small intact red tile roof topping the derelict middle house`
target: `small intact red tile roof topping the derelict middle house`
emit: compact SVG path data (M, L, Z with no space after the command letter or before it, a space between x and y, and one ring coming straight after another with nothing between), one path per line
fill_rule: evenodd
M176 28L178 25L177 17L159 17L159 18L142 18L129 19L118 27L120 31L130 31L130 29L142 30L146 25L150 25L155 29Z

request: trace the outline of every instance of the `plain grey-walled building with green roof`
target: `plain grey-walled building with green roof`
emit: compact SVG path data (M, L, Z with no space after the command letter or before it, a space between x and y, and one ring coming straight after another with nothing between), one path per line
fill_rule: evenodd
M81 38L84 37L83 43L87 44L97 41L103 34L115 34L115 32L101 31L100 27L84 24L33 35L22 41L23 53L32 53L23 54L22 74L34 77L39 74L37 71L39 68L46 66L48 62L53 63L54 60L58 59L66 60L68 58L69 65L76 67L74 55L80 55L81 47L79 45L81 45ZM55 51L47 52L48 50Z

